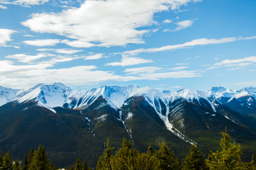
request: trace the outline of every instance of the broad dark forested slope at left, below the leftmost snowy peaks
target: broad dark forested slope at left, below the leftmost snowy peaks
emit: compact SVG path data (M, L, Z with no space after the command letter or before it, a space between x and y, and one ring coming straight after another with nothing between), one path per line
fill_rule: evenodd
M55 108L53 113L28 101L0 107L0 148L23 160L32 147L44 145L54 165L68 167L77 157L86 157L91 166L104 151L104 142L88 132L80 111Z

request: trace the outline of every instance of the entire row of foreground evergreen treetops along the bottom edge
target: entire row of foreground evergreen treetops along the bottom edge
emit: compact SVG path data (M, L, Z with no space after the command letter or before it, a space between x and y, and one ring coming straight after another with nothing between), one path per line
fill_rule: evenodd
M184 160L180 160L165 141L159 143L160 148L153 151L148 147L148 151L140 152L132 149L131 140L124 137L122 147L114 151L109 140L102 156L99 157L96 167L87 165L84 158L83 163L76 159L69 170L255 170L256 159L254 154L250 162L243 162L243 151L240 144L231 142L231 137L227 132L221 132L219 145L221 150L209 153L208 157L200 153L195 144L190 148L190 154ZM28 156L27 156L28 155ZM37 150L33 148L20 161L12 160L8 151L3 156L0 149L0 169L1 170L58 170L48 159L44 146L39 145ZM68 170L68 168L66 168Z

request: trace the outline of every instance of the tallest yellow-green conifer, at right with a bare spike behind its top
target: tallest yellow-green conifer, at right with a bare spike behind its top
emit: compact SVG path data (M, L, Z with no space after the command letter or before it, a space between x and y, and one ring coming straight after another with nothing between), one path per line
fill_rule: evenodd
M242 149L240 145L236 145L235 142L231 143L230 136L227 132L221 133L219 144L222 147L222 151L211 151L211 157L205 162L210 170L233 170L233 169L245 169L245 163L241 161Z

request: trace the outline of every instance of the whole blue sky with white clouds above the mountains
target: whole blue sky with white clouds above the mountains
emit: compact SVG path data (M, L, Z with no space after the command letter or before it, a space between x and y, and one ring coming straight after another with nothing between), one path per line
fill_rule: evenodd
M256 87L255 0L0 0L0 86Z

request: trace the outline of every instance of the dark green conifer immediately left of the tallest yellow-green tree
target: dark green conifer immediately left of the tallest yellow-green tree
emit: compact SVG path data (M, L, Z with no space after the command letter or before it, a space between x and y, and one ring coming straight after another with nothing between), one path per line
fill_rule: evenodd
M188 155L182 163L182 170L206 170L206 164L202 153L199 152L196 145L190 148L190 155Z

